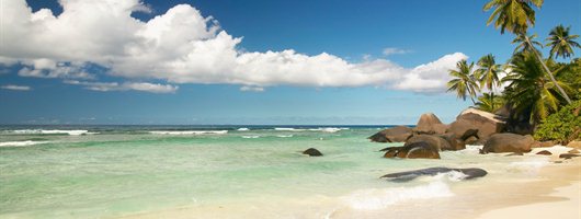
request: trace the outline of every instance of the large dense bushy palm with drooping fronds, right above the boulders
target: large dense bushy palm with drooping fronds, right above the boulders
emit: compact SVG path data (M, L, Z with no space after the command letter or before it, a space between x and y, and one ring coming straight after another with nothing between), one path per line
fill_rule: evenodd
M517 113L527 115L529 123L536 125L558 110L563 99L555 89L556 84L544 77L543 66L532 51L514 55L510 68L511 72L502 81L510 83L504 92L505 97ZM557 83L570 90L567 84Z

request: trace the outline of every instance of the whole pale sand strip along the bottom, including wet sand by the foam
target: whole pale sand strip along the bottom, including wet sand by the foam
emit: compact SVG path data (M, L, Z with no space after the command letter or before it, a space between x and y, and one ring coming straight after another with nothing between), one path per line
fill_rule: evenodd
M549 150L554 154L543 157L535 154L540 150ZM559 159L559 153L568 151L570 148L551 147L536 148L524 158L546 158L544 166L533 170L527 178L500 178L490 176L487 185L468 185L453 187L455 194L451 198L438 199L413 199L398 203L386 209L378 210L355 210L335 206L337 203L328 203L328 198L307 198L293 205L300 206L293 211L282 210L282 215L264 215L262 210L276 208L272 204L244 205L233 204L224 206L198 206L198 207L176 207L160 211L140 212L123 215L115 218L237 218L236 216L252 216L255 218L272 218L276 216L294 215L301 218L384 218L386 214L397 215L400 218L418 218L430 216L434 219L456 218L456 219L498 219L498 218L543 218L559 216L559 218L580 218L580 211L574 206L581 207L581 158L570 160ZM561 161L555 163L555 161ZM472 182L465 182L470 184ZM466 185L465 184L465 185ZM288 205L280 203L278 205ZM409 205L417 206L420 211L401 211ZM272 206L271 206L272 205ZM443 206L443 207L438 207ZM571 207L572 206L572 207ZM296 207L296 206L295 206ZM262 210L261 210L262 209ZM310 212L303 212L301 209L319 209ZM324 211L324 212L323 212ZM269 211L270 212L270 211ZM542 212L542 214L540 214ZM271 217L272 216L272 217ZM561 217L562 216L562 217ZM552 218L552 217L549 217Z

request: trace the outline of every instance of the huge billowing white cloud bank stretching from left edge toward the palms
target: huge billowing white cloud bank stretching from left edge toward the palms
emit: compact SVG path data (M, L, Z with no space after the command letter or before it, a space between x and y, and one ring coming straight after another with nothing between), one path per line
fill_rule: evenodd
M21 77L57 78L95 91L174 93L174 84L219 83L254 92L274 85L443 92L447 70L468 58L454 53L403 68L387 59L349 62L327 53L243 51L238 48L242 37L228 34L217 20L189 4L145 22L132 18L136 11L150 12L139 0L60 0L58 16L49 9L33 12L25 0L2 3L0 65L19 65ZM100 82L91 65L127 81Z

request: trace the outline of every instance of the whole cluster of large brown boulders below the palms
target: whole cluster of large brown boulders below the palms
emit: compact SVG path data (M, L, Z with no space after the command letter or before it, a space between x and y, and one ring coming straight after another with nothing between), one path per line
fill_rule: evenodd
M396 126L384 129L368 139L375 142L405 142L402 147L386 148L385 158L440 159L440 151L462 150L466 145L483 145L481 153L513 152L521 154L536 142L531 136L504 134L501 116L468 108L449 125L443 124L433 113L420 116L414 128Z

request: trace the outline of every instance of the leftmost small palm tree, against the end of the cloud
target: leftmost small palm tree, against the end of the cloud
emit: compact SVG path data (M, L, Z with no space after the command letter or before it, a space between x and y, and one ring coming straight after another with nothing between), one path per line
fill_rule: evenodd
M472 74L474 62L468 62L463 59L456 64L456 69L449 70L449 76L454 77L448 81L448 92L456 91L458 99L466 101L466 96L470 96L472 103L476 104L474 97L476 92L479 90L478 83L476 83Z

